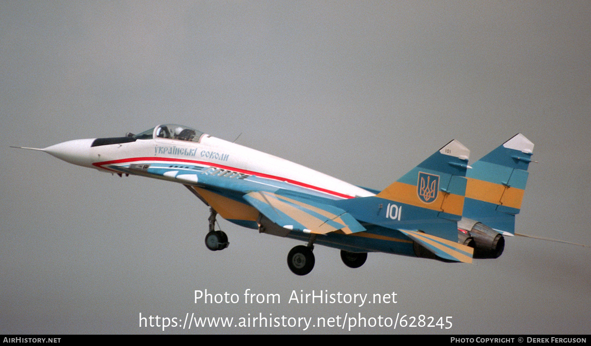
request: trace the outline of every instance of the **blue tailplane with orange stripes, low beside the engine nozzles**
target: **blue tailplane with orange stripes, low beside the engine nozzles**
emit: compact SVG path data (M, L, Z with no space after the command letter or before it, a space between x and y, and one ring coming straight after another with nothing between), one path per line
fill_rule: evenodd
M440 237L418 231L399 230L405 236L421 244L425 249L444 260L472 263L474 249L472 247L449 241Z

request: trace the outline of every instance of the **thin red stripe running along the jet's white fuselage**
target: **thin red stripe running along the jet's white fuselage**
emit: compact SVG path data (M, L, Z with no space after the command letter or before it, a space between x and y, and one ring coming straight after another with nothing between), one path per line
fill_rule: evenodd
M335 195L335 196L342 197L342 198L353 198L353 196L342 194L342 193L336 192L336 191L326 190L325 188L321 188L321 187L317 187L317 186L314 186L314 185L306 184L304 182L300 182L300 181L296 181L296 180L292 180L292 179L287 179L287 178L276 177L275 175L269 175L269 174L264 174L264 173L260 173L260 172L248 171L246 169L241 169L241 168L236 168L236 167L230 167L230 166L225 166L225 165L217 165L217 164L213 164L212 162L207 162L207 161L194 161L194 160L187 160L187 159L147 157L147 158L128 158L128 159L118 159L118 160L112 160L112 161L93 162L92 165L95 166L95 167L98 167L98 168L102 168L102 169L109 169L109 168L102 167L102 166L103 165L111 165L111 164L123 164L125 162L134 162L134 161L189 162L191 164L207 165L207 166L216 167L216 168L229 169L230 171L235 171L235 172L239 172L239 173L244 173L244 174L249 174L249 175L256 175L256 177L260 177L260 178L267 178L267 179L274 179L274 180L277 180L277 181L284 181L284 182L288 182L290 184L294 184L294 185L297 185L297 186L300 186L300 187L309 188L311 190L316 190L316 191L324 192L326 194ZM109 170L112 171L112 169L109 169ZM117 172L117 173L119 173L119 172Z

